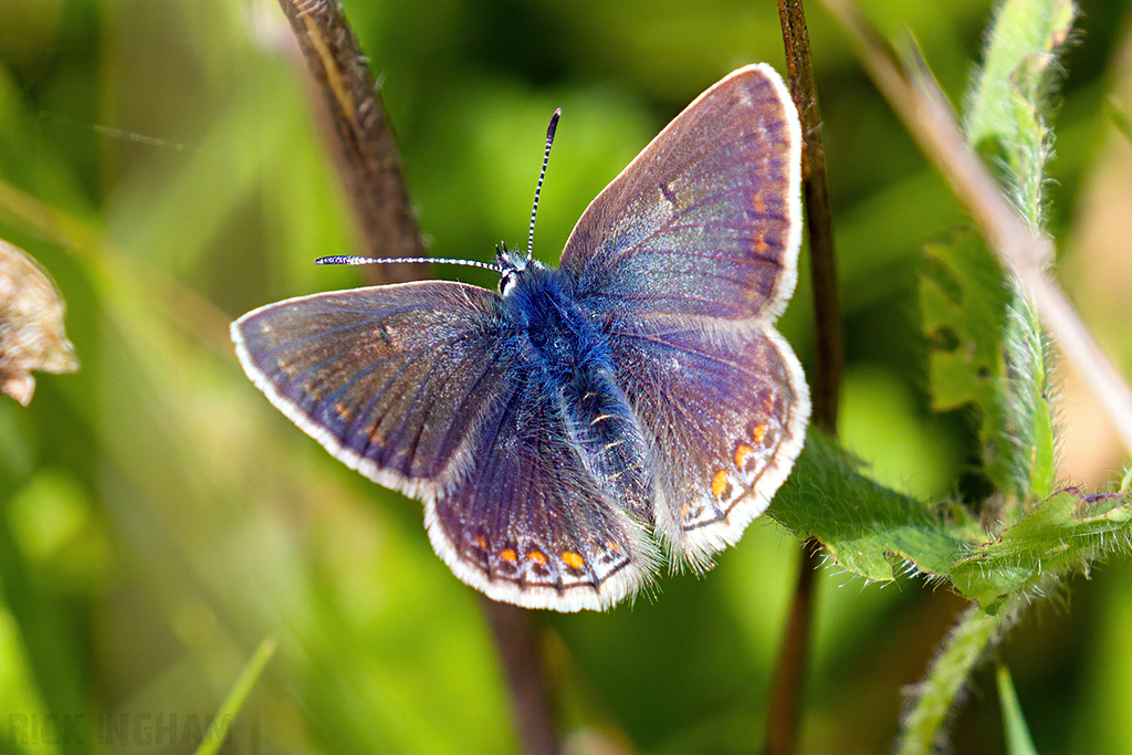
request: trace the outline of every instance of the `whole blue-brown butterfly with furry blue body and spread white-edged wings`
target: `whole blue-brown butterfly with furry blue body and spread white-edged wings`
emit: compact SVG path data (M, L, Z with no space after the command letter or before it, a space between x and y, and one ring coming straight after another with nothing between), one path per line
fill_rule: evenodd
M498 292L268 304L232 324L240 362L331 454L421 499L437 555L494 600L601 610L666 555L705 570L770 505L809 418L774 329L800 140L779 75L741 68L598 195L558 268L504 247Z

